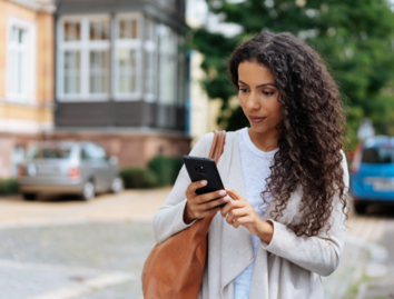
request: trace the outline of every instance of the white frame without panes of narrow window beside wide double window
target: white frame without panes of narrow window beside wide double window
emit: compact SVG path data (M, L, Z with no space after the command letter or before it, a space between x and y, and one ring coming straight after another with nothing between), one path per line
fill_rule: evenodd
M142 40L144 40L144 29L142 29L142 14L138 12L134 13L118 13L114 18L111 34L114 37L114 51L112 51L112 98L115 101L138 101L141 99L142 94L142 77L140 76L142 71ZM137 20L137 39L120 40L119 37L119 21L126 20ZM119 68L118 68L118 50L119 49L136 49L137 50L137 90L135 92L119 92Z

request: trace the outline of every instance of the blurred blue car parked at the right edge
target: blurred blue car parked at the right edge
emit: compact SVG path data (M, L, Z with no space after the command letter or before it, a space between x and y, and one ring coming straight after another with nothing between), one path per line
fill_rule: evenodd
M351 195L357 213L371 203L394 203L394 138L372 137L357 146L351 168Z

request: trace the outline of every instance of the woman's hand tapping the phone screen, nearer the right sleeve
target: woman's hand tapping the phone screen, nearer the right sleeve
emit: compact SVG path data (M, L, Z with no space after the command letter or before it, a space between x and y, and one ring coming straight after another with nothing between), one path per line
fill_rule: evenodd
M250 233L259 237L266 243L269 243L274 235L274 226L269 221L263 220L252 205L235 190L225 188L230 200L220 210L221 217L226 218L227 223L235 228L244 226Z

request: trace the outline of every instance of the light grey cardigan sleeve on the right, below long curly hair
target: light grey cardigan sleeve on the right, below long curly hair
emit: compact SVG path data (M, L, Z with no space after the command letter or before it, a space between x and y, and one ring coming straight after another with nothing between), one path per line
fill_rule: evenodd
M348 170L344 152L342 167L344 170L345 192L348 188ZM345 242L346 217L342 211L339 198L333 200L331 229L323 228L316 237L297 237L286 226L268 219L274 225L273 238L267 245L260 241L263 248L276 256L321 276L329 276L339 265L339 258Z

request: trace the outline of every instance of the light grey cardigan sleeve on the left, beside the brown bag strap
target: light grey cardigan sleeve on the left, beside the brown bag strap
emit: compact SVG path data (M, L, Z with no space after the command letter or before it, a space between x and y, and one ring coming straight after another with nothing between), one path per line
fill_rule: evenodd
M208 157L213 139L213 132L205 134L195 144L189 156ZM184 165L170 193L154 217L152 229L157 243L162 243L169 237L190 227L196 221L189 225L186 225L184 221L184 210L187 202L185 191L190 182L189 175Z

